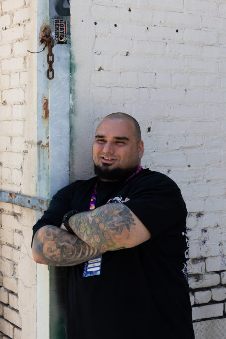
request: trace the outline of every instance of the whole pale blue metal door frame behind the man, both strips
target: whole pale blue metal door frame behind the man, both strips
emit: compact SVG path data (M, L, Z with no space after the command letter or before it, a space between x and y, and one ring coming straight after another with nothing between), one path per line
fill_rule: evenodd
M46 53L37 57L37 196L51 198L69 184L70 150L70 18L69 0L38 0L38 30L54 19L67 20L67 44L55 44L54 78L47 80ZM39 34L39 32L38 32ZM37 218L41 212L37 212ZM59 268L60 269L60 268ZM65 316L56 293L60 271L37 264L37 339L65 338ZM64 286L62 285L64 289ZM58 301L56 301L58 300ZM63 319L62 319L63 318Z

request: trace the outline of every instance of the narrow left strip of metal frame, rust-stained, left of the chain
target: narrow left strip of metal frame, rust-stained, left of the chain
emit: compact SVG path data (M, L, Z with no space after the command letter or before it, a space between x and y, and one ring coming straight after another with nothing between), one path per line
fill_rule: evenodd
M49 25L49 1L38 0L37 5L38 37L42 24ZM40 46L37 44L37 51L39 49ZM37 54L37 196L49 198L49 80L46 76L48 68L46 57L47 49ZM37 211L37 220L41 216L42 212ZM37 264L36 273L36 339L48 339L50 337L48 266Z

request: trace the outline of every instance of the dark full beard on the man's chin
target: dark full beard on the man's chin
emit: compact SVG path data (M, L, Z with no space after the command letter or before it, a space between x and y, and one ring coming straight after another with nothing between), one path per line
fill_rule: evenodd
M94 164L95 174L103 180L109 181L126 180L137 171L139 165L125 169L120 167L111 169L109 166L110 165L106 164L100 167Z

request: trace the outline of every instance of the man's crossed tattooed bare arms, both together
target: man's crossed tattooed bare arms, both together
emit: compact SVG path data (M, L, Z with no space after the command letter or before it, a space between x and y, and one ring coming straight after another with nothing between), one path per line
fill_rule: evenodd
M75 214L68 223L75 234L52 225L35 233L32 252L37 263L77 265L106 251L134 247L151 238L147 228L123 203Z

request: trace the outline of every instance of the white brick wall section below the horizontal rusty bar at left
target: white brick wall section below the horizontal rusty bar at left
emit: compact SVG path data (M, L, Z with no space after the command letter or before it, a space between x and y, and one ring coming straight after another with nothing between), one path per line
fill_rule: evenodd
M36 265L30 249L36 212L0 203L0 213L0 338L36 338Z

